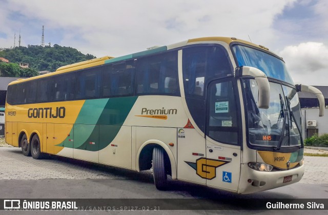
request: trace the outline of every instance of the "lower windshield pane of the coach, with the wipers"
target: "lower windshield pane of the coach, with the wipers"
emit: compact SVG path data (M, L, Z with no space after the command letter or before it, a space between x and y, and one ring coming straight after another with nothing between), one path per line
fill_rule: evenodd
M296 90L270 82L270 106L257 107L258 86L254 79L244 79L249 143L276 149L301 145L301 113Z

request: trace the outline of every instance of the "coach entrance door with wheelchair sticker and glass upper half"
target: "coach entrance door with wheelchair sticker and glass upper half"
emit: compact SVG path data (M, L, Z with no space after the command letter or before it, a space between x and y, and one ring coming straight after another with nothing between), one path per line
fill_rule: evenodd
M207 88L206 161L202 177L208 186L238 190L241 161L240 113L233 79L216 80Z

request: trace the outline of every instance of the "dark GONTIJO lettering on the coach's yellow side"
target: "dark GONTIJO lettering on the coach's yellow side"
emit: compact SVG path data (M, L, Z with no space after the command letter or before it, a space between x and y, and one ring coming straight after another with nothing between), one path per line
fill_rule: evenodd
M48 108L29 108L28 118L65 118L65 107Z

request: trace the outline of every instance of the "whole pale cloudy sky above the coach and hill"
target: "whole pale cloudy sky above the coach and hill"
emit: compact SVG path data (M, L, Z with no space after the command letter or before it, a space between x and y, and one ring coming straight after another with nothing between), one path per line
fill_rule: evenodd
M296 84L328 86L327 0L0 0L0 48L45 44L121 56L228 36L283 57Z

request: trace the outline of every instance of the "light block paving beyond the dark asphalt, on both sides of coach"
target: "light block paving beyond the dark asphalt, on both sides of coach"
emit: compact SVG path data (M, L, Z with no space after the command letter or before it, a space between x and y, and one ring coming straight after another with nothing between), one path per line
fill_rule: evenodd
M24 156L16 147L0 147L0 154L1 162L5 164L0 170L0 180L126 179L135 174L133 171L57 156L39 161ZM304 165L305 173L299 183L328 184L328 157L305 156ZM141 175L149 178L149 174L151 172L146 171Z

